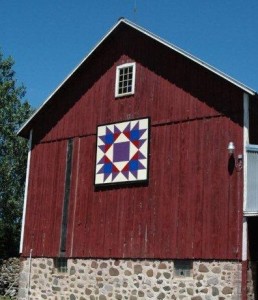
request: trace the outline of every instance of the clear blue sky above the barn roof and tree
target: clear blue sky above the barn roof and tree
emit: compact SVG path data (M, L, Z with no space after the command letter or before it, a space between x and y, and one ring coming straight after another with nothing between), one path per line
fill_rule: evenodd
M35 108L121 16L258 91L257 12L258 0L1 0L0 49Z

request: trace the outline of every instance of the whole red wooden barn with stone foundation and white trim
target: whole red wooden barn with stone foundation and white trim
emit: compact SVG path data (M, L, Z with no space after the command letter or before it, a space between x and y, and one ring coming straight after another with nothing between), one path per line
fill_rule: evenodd
M19 131L20 299L255 299L257 103L119 20Z

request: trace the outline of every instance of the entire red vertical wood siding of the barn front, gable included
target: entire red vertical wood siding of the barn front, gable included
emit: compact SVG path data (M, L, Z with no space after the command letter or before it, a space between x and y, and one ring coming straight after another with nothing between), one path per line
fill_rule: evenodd
M115 68L128 61L135 95L115 99ZM55 97L34 128L24 256L58 255L73 138L67 256L241 258L242 173L229 172L226 150L243 151L240 90L129 31ZM152 125L148 185L95 190L96 126L140 117Z

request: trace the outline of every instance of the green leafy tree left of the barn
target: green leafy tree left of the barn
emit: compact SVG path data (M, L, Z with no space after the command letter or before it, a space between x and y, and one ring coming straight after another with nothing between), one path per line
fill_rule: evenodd
M32 113L13 65L0 52L0 257L19 252L28 142L16 133Z

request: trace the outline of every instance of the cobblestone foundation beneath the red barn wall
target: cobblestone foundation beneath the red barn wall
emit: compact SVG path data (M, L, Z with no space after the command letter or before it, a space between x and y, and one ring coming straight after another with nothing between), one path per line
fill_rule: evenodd
M241 299L241 263L194 261L177 277L173 261L68 259L58 273L53 259L21 262L19 299Z

